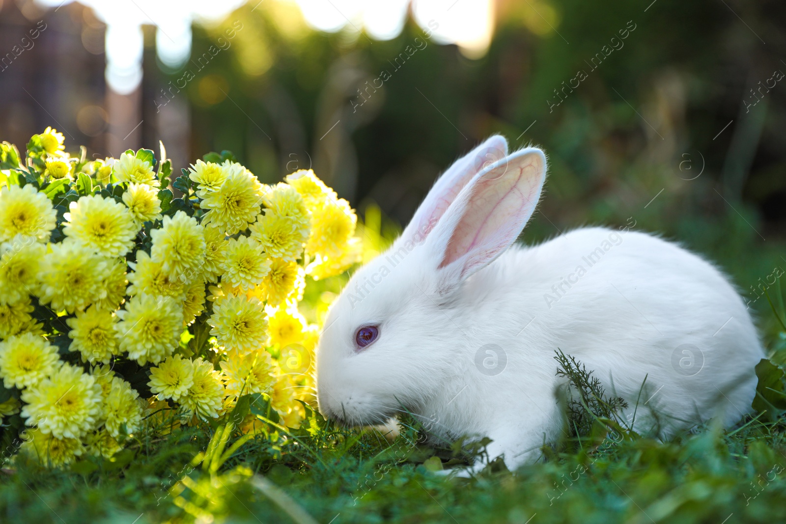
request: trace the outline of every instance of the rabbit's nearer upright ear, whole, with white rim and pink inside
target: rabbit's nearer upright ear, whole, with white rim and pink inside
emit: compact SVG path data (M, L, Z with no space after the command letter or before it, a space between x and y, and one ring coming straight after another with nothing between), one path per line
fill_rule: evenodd
M461 190L428 238L440 288L487 266L516 240L538 204L545 171L543 152L526 148L476 174Z

